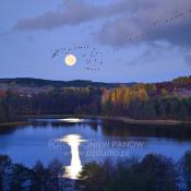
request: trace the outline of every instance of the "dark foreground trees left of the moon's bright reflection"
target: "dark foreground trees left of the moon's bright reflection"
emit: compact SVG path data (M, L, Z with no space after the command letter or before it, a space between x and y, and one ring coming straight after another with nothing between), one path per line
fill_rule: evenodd
M64 168L53 159L45 167L37 162L33 168L14 164L7 155L0 155L0 191L62 191Z

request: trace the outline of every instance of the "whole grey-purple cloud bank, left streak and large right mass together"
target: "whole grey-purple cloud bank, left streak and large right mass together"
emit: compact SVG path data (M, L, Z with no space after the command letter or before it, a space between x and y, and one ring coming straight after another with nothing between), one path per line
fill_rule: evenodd
M167 40L191 45L190 0L119 0L108 5L93 1L70 0L60 11L17 21L13 31L40 31L79 25L103 19L96 39L109 46L126 46L140 41ZM177 16L183 13L181 16Z

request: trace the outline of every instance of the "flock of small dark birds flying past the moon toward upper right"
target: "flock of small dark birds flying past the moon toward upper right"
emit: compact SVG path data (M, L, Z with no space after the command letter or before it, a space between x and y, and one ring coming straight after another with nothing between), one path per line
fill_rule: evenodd
M176 11L174 16L170 16L168 19L165 19L163 21L155 21L152 23L153 27L156 27L160 24L170 24L183 16L186 16L187 14L191 14L191 9L187 10L187 11ZM150 32L145 32L144 34L138 35L135 37L126 37L123 39L123 43L133 43L133 41L138 41L144 37L148 37L151 35ZM116 48L112 50L107 50L107 52L111 52L111 51L119 51L120 48ZM84 67L84 70L87 71L100 71L102 65L104 64L104 56L105 52L103 51L98 51L96 47L93 47L91 45L81 45L81 46L74 46L74 47L63 47L60 49L57 49L53 55L52 58L56 58L60 55L69 55L71 52L76 52L75 55L77 55L80 52L80 57L83 59L83 62L86 64Z

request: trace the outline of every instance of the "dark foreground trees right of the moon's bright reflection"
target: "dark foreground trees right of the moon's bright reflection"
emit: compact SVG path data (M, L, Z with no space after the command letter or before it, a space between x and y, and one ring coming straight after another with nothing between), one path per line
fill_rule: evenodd
M79 191L190 191L191 152L179 162L148 154L117 164L106 159L85 165L76 182Z

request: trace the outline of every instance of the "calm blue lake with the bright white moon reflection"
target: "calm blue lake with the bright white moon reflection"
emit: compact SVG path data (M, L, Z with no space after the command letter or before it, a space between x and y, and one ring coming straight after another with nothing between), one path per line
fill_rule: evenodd
M100 119L31 119L32 124L0 130L0 154L28 167L58 158L75 179L88 162L143 157L148 153L179 159L191 150L191 128L130 126Z

